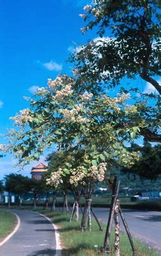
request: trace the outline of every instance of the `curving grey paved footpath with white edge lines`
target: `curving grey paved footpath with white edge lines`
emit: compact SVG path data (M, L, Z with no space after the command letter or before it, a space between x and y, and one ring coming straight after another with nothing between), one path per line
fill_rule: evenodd
M17 232L2 246L1 256L53 256L55 255L55 230L43 216L21 210L11 210L20 218Z

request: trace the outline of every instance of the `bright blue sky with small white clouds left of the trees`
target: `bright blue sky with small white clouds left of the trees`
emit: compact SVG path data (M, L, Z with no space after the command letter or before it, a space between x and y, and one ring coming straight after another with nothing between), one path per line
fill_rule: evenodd
M83 20L78 17L90 1L8 0L0 10L0 133L11 128L10 116L27 108L23 96L32 97L34 86L46 86L49 77L60 71L69 73L66 60L73 42L85 43L97 35L82 35ZM0 143L3 137L0 137ZM44 157L42 158L42 160ZM15 160L6 155L0 160L0 179L16 172ZM23 175L29 175L31 166Z

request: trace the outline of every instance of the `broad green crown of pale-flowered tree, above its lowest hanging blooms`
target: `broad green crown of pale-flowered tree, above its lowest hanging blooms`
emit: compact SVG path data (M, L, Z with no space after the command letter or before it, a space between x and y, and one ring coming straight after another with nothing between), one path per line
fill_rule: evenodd
M29 99L31 107L11 117L17 129L8 131L9 150L18 164L38 160L53 143L59 150L73 145L84 148L86 163L100 163L100 159L126 163L128 155L132 164L130 157L137 154L128 152L123 142L146 125L144 103L125 103L129 99L125 93L113 99L87 92L80 95L75 87L74 79L65 75L49 79L48 87L38 88L34 99Z

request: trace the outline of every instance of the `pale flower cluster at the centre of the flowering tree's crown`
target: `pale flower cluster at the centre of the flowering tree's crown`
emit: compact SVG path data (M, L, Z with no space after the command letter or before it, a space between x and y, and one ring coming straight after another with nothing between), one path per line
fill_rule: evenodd
M86 118L83 118L81 115L79 115L80 111L82 109L81 105L75 106L73 109L61 109L61 113L64 115L64 119L62 119L62 122L69 120L70 122L88 122Z

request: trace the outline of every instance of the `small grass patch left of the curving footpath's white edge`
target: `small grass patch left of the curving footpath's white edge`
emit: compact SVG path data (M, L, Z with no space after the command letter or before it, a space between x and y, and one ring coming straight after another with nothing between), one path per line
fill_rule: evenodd
M15 214L8 211L0 211L0 241L8 236L17 225Z

